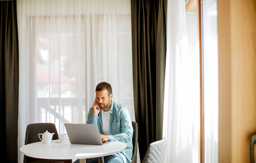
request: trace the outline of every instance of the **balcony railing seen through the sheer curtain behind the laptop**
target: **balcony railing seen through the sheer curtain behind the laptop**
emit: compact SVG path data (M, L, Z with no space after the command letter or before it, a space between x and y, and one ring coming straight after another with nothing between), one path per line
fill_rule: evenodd
M85 98L37 98L38 121L56 125L58 133L65 133L65 123L86 123L88 107Z

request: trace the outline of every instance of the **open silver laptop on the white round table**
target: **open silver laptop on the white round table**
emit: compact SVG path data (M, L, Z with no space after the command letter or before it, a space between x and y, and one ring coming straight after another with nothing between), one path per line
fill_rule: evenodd
M70 143L103 145L110 141L101 141L97 124L64 124Z

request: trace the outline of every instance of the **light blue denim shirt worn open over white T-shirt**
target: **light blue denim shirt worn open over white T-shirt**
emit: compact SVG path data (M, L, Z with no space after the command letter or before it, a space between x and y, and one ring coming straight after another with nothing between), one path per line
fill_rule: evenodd
M101 110L102 111L102 110ZM101 111L97 115L92 114L92 108L90 108L88 113L87 124L97 124L99 128L99 133L103 133L102 131L102 118ZM122 141L126 143L127 147L119 152L119 154L123 157L124 163L132 162L132 121L130 118L130 112L121 104L117 104L111 100L110 107L110 124L109 124L109 135L108 140L111 141Z

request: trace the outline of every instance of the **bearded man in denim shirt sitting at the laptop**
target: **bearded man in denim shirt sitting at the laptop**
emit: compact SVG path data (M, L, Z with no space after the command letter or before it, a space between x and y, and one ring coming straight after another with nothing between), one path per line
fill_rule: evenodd
M96 98L88 113L87 124L97 124L101 140L122 141L127 147L104 157L105 163L130 163L132 158L132 121L129 110L112 101L113 93L109 83L101 82L96 87ZM97 163L97 158L87 159L87 163Z

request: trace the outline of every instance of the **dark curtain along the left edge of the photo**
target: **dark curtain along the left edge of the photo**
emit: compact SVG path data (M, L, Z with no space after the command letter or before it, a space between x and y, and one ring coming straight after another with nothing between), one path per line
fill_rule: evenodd
M1 160L18 162L18 28L16 1L0 1Z

